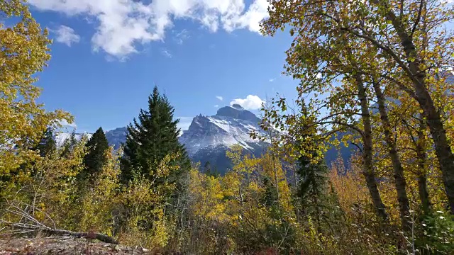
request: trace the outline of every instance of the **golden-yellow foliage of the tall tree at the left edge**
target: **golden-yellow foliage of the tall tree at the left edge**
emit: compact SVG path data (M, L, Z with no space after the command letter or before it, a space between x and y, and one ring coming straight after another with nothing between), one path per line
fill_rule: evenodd
M53 121L66 119L67 113L48 113L35 103L40 88L34 86L35 74L50 60L50 40L31 17L23 1L2 1L0 13L19 16L9 28L0 25L0 175L10 173L34 152L28 148Z

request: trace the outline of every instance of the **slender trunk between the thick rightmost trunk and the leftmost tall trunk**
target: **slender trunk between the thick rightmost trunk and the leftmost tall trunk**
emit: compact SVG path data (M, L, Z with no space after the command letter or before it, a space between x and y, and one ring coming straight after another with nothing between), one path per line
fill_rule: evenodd
M383 130L384 130L384 141L386 142L389 157L392 162L392 169L394 170L394 186L397 191L397 200L399 201L399 212L400 220L402 223L402 229L404 231L409 231L411 229L410 225L410 205L409 198L406 195L406 182L404 177L404 167L400 161L399 154L397 154L396 143L392 139L391 134L391 124L389 123L388 113L384 106L384 95L382 93L382 88L378 82L373 82L375 95L377 96L378 110L380 112L380 119L382 120Z

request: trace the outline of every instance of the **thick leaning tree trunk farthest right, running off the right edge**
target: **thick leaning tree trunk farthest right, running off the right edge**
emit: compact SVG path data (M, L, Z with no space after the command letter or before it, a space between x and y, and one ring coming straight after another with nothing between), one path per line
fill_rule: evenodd
M372 0L372 2L377 4L377 6L384 6L379 0ZM389 6L384 7L389 8ZM399 66L404 69L407 76L412 81L415 91L413 96L416 101L418 101L424 116L427 118L427 125L431 131L438 164L440 164L441 173L443 175L443 182L445 184L446 196L448 196L450 211L454 214L454 154L449 145L448 137L446 137L446 130L443 126L440 113L438 113L431 94L427 89L426 71L421 69L421 62L423 60L416 51L413 38L411 38L409 33L405 30L402 19L397 17L390 9L386 13L386 18L388 21L391 21L392 26L399 36L400 44L404 48L408 65L402 60L399 60L399 57L397 57L395 52L392 52L389 47L385 51L394 53L392 57L397 61ZM409 93L409 91L406 92Z

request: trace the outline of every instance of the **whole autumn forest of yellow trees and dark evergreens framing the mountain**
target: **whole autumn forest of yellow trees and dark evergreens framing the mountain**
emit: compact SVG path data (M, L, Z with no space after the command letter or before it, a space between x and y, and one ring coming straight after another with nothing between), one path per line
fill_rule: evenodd
M92 237L155 254L454 254L454 7L438 0L268 0L297 98L264 103L223 176L190 162L157 87L118 151L38 103L48 30L0 1L0 239ZM62 86L65 86L62 84ZM325 152L356 149L327 166ZM201 170L200 170L201 169Z

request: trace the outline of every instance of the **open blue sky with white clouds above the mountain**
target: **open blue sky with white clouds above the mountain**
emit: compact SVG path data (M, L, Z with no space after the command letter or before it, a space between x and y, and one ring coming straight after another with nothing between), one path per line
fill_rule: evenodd
M77 132L127 125L157 84L182 118L240 103L258 113L276 92L291 38L258 33L266 0L29 0L54 40L40 101L74 115Z

